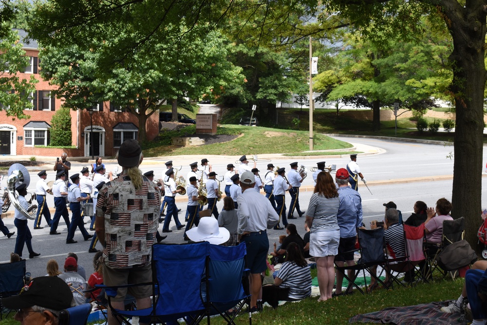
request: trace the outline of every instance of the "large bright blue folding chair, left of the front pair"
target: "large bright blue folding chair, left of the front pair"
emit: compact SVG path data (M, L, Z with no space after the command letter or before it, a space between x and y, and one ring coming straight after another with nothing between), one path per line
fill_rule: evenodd
M131 286L152 286L152 306L138 310L113 308L111 297L118 287L104 287L108 303L119 324L129 325L129 318L139 317L140 323L165 324L183 318L187 324L198 324L206 306L201 297L209 243L155 244L152 246L152 283ZM122 287L122 286L120 286Z

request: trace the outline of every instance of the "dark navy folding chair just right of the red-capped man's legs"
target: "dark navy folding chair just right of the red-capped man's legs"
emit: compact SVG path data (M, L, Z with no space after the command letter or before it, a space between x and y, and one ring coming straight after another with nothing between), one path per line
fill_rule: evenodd
M338 267L337 265L335 266L337 268L337 271L342 272L344 274L345 279L348 281L348 286L345 292L348 292L352 286L356 287L360 293L365 294L364 290L356 284L356 280L358 278L358 274L360 271L363 273L363 278L365 281L365 287L367 288L367 280L365 277L365 271L368 271L370 273L370 268L380 265L383 266L385 262L385 254L384 254L384 228L377 228L377 229L358 229L358 244L360 245L360 248L358 251L360 251L361 257L358 260L356 265L353 266L344 266L344 267ZM354 270L355 271L355 276L353 279L350 279L347 275L348 270ZM380 274L379 276L376 276L371 273L371 277L375 279L376 283L382 284L384 287L386 285L384 282L380 279ZM372 279L371 279L372 280ZM367 292L367 290L365 290Z

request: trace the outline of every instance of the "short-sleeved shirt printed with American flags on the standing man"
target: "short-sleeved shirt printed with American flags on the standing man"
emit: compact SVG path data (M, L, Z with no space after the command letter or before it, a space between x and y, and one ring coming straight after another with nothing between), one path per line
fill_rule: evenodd
M135 191L130 177L122 173L98 193L98 211L105 219L103 255L109 268L150 264L160 209L160 192L147 177Z

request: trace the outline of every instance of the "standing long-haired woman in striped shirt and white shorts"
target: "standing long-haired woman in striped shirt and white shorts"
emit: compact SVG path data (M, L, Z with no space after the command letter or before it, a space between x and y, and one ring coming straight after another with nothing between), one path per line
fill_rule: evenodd
M318 271L318 301L332 298L335 284L335 255L338 253L340 228L337 214L338 191L329 172L320 172L315 191L306 211L306 224L311 229L309 254L315 257Z

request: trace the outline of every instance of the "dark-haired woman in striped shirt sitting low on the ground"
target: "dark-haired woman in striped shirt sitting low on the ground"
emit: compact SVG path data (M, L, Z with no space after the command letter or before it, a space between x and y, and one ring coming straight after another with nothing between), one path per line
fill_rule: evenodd
M289 227L289 225L288 225ZM277 308L280 300L297 301L311 296L311 272L299 246L291 242L273 285L262 287L262 302Z

